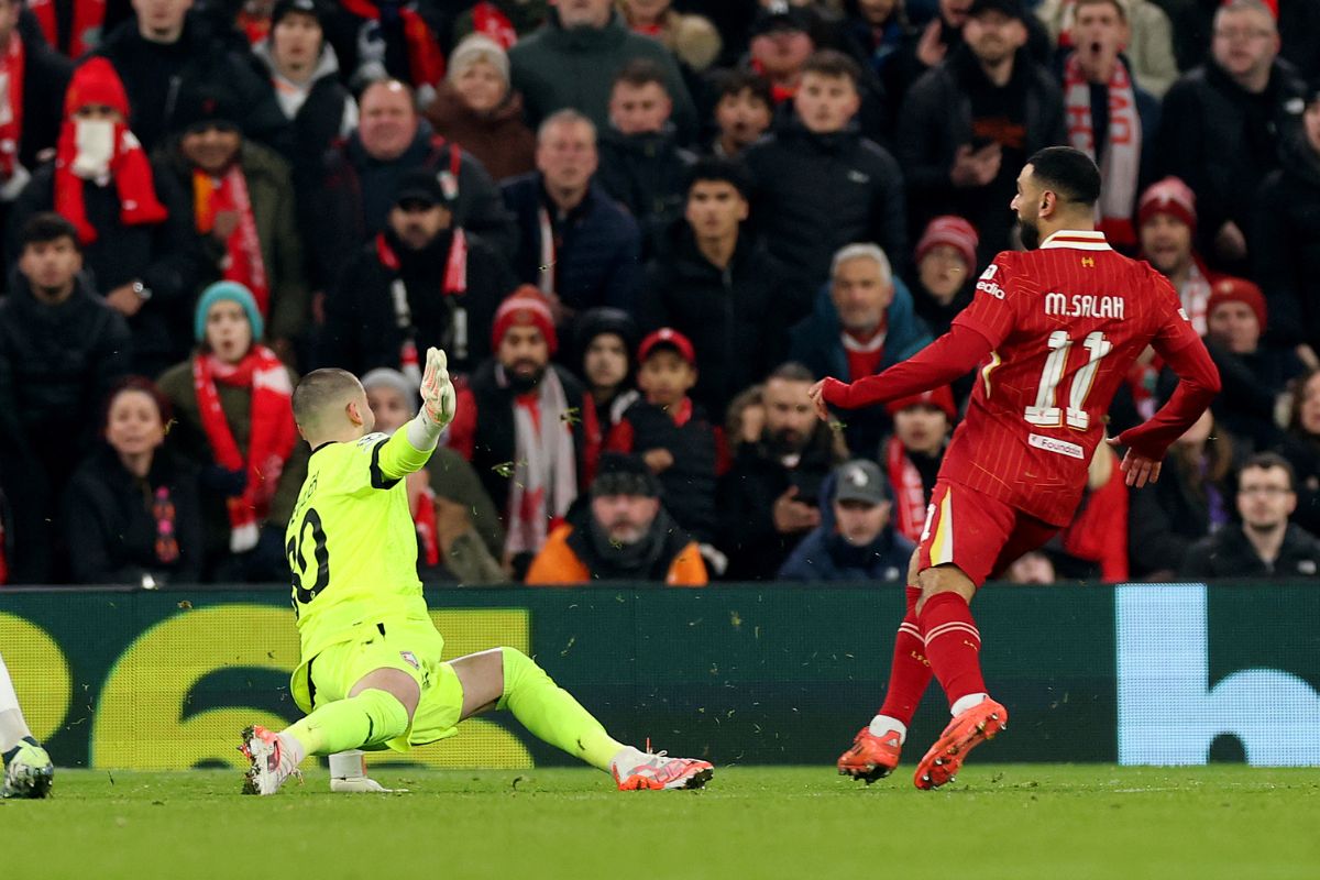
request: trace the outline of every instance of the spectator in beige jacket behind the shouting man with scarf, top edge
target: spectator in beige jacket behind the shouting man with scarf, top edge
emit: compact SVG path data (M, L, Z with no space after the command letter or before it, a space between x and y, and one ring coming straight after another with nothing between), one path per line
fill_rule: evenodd
M1155 98L1158 106L1159 99L1177 79L1177 65L1173 62L1173 28L1158 5L1150 0L1088 0L1088 3L1044 0L1036 7L1036 17L1044 22L1045 30L1060 51L1084 53L1092 37L1089 32L1094 25L1088 26L1088 22L1078 21L1082 18L1080 13L1084 7L1100 1L1115 7L1122 30L1118 49L1123 53L1125 66L1137 80L1137 86Z

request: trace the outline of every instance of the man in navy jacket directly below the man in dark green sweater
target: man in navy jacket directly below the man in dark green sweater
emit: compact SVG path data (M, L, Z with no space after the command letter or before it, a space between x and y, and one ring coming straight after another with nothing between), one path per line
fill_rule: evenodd
M593 306L634 310L642 237L636 222L595 182L595 127L564 110L536 132L536 172L504 183L521 232L519 280L549 299L558 327Z

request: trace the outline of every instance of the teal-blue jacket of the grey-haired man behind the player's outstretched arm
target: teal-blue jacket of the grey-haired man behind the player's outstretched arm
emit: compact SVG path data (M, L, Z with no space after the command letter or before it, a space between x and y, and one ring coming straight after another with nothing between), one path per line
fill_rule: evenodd
M925 322L916 315L912 294L896 276L894 301L886 313L888 330L884 336L884 359L880 371L907 360L931 344L932 336ZM843 329L838 311L829 296L829 285L816 296L816 309L788 331L788 359L799 360L817 377L833 376L849 380L847 354L840 336ZM874 456L880 438L890 429L890 418L883 406L851 410L842 414L843 439L854 455Z

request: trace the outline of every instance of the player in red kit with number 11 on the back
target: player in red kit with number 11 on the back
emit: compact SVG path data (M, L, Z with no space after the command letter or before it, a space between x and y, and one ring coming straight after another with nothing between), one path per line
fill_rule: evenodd
M1011 204L1028 251L997 256L949 332L908 360L850 385L825 379L812 387L826 418L826 404L883 404L981 367L912 557L884 705L840 757L840 773L871 782L894 770L933 673L953 720L915 782L933 789L953 781L968 751L1008 720L981 676L981 633L969 607L977 588L1072 520L1109 402L1146 346L1180 381L1150 421L1110 441L1127 447L1121 467L1129 486L1158 479L1170 443L1220 389L1170 282L1096 231L1098 197L1100 170L1085 153L1040 150L1019 174Z

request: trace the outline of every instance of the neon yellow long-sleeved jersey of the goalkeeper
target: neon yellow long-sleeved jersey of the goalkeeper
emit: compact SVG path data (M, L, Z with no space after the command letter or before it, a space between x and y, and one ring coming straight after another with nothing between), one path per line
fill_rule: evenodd
M404 430L312 453L284 537L304 660L362 624L426 616L403 478L428 458Z

